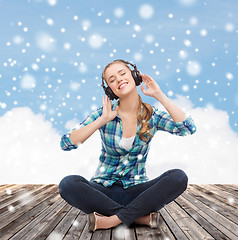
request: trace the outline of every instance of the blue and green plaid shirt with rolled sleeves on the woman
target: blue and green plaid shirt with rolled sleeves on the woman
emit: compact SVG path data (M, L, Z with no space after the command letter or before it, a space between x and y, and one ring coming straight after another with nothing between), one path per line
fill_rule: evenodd
M117 101L112 105L112 110L115 110L118 103ZM167 112L159 111L154 106L152 107L153 114L148 121L151 128L149 133L152 136L154 136L158 130L167 131L178 136L191 135L196 132L196 126L190 116L187 116L183 122L174 122ZM102 115L102 110L103 107L91 113L74 129L79 129L95 121ZM146 176L145 163L152 138L147 142L141 140L138 135L140 128L141 124L138 120L136 136L129 151L119 145L122 137L122 120L119 115L99 128L102 139L102 150L98 167L90 181L101 183L105 187L108 187L115 181L121 180L123 187L128 188L149 180ZM77 148L69 138L70 133L71 132L63 135L61 138L60 144L64 151Z

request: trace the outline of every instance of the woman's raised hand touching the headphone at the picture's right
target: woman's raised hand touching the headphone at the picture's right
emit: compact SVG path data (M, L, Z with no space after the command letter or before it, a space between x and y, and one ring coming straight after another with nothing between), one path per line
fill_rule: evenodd
M151 78L150 76L146 75L146 74L142 74L140 73L143 83L145 84L146 88L144 88L144 86L141 84L141 91L146 95L146 96L150 96L150 97L158 97L160 94L163 94L163 92L161 91L159 85L157 84L157 82Z

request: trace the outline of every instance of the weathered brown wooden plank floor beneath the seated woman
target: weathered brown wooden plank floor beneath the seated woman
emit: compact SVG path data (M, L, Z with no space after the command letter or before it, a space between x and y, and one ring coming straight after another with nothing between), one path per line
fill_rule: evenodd
M192 185L160 210L160 230L120 224L88 232L87 215L57 185L0 185L0 239L238 239L238 185Z

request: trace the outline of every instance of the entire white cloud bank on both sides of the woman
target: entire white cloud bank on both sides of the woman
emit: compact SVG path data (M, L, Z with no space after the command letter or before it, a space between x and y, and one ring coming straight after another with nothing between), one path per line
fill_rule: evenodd
M149 178L181 168L189 183L237 184L238 136L230 128L227 113L212 105L194 108L179 95L173 102L193 117L197 132L186 137L157 132L147 159ZM0 184L59 183L70 174L90 179L96 170L101 149L98 131L77 150L64 152L59 146L61 136L51 123L25 107L0 117L0 132Z

